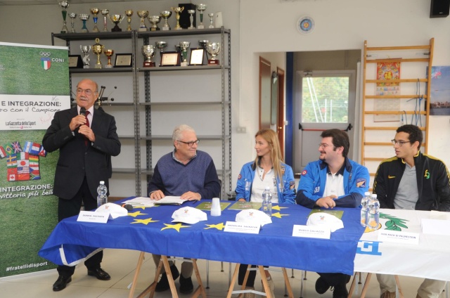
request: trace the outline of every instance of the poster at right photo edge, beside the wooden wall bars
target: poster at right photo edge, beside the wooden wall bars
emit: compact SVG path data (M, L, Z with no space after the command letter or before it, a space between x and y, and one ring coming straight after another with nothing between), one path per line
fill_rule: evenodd
M430 115L450 115L450 66L431 67Z

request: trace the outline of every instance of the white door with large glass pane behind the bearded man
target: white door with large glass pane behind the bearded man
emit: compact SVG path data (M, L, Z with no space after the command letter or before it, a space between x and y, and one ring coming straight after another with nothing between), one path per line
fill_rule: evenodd
M349 158L354 141L356 75L354 70L297 72L295 98L295 173L317 160L321 132L347 131Z

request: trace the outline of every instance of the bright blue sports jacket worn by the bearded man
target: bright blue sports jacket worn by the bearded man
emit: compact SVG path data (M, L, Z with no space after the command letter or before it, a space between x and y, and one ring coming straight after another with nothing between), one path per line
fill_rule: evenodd
M345 157L344 168L344 191L342 195L335 199L336 207L358 207L361 205L361 198L368 191L368 183L370 176L368 169L353 160ZM298 205L308 208L314 208L316 200L323 197L325 190L326 174L328 172L328 164L322 160L309 162L307 167L302 171L300 183L298 184L298 192L295 200Z

